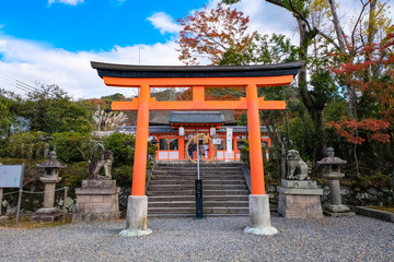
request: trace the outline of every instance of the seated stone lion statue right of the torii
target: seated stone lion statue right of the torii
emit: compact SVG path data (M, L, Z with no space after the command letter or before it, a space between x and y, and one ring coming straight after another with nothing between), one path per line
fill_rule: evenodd
M309 167L305 162L300 157L300 153L296 150L288 151L287 155L288 163L288 180L305 180L310 179L308 176Z

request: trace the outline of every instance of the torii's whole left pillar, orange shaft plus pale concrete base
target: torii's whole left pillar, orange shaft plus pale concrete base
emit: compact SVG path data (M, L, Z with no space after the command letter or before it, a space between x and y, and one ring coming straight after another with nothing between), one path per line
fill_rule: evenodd
M148 196L146 195L146 170L149 132L150 86L142 84L138 99L137 134L131 195L127 200L126 229L120 236L144 236L152 233L148 228Z

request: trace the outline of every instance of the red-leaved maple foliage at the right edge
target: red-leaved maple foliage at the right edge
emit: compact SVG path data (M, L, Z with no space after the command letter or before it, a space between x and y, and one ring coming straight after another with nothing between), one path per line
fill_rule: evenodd
M358 110L358 118L344 116L339 121L328 122L328 127L334 128L335 132L349 143L362 144L367 138L360 135L360 132L366 133L370 140L393 142L391 126L394 120L394 26L390 32L392 33L381 43L360 49L357 60L347 62L345 58L344 62L332 69L347 86L355 88L362 106ZM345 57L344 53L332 56L339 57L339 60ZM369 73L376 67L379 74Z

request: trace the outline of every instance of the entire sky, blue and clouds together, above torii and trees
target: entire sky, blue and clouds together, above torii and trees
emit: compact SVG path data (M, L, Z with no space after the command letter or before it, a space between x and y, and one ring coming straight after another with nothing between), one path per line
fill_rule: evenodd
M18 81L57 84L77 98L136 90L107 87L90 61L127 64L182 64L177 19L220 0L0 0L0 88L24 94ZM359 0L338 0L344 15ZM297 43L289 12L264 0L233 8L250 16L250 29L280 33ZM26 86L25 86L26 87Z

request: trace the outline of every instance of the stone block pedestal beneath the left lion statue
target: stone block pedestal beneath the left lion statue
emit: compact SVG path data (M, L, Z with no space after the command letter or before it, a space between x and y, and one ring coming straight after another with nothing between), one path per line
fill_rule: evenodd
M115 180L89 179L76 189L77 203L72 222L102 222L118 218L118 194Z

